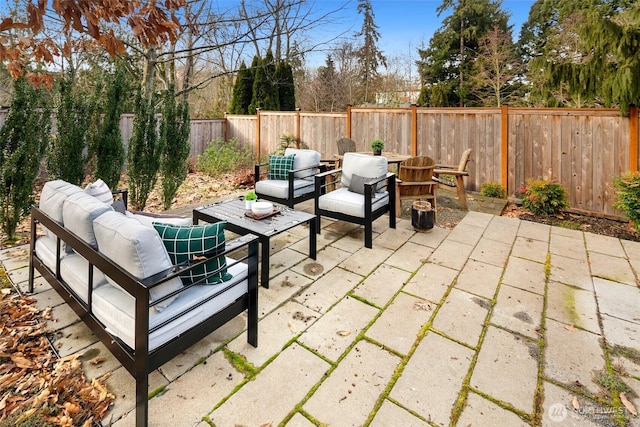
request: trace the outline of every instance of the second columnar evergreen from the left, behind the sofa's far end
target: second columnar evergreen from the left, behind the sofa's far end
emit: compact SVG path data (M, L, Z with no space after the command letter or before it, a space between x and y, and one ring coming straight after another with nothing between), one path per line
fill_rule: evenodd
M70 68L57 82L56 135L47 152L51 178L80 185L84 179L85 154L91 104L76 93L75 71Z

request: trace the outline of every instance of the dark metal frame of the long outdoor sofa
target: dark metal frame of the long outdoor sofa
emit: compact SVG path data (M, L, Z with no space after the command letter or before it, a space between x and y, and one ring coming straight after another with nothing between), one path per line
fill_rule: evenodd
M57 236L57 253L55 271L47 267L38 257L35 249L36 226L40 223ZM246 262L248 265L248 292L238 298L223 310L211 315L191 329L185 331L172 340L149 351L149 308L158 302L176 296L187 286L175 291L166 297L149 303L150 290L175 278L178 274L195 268L207 262L202 260L188 266L174 267L164 272L158 273L143 281L136 279L120 266L113 263L109 258L89 246L75 234L69 232L58 224L51 217L46 215L37 206L31 208L31 243L29 256L29 292L33 293L35 270L56 290L80 319L91 329L91 331L102 341L109 351L118 359L127 371L133 376L136 382L136 426L147 426L148 423L148 375L155 369L170 361L178 354L200 341L228 321L248 312L248 332L247 341L254 347L258 345L258 238L248 234L233 241L226 242L224 252L209 256L227 255L234 252L236 261L229 262L233 265L236 262ZM97 319L91 310L92 286L88 284L88 299L85 303L75 292L62 280L60 276L60 255L62 253L62 242L70 245L73 250L84 257L89 262L88 282L93 283L93 267L101 270L111 277L126 292L135 298L135 349L131 349L119 338L109 334L102 323ZM242 255L242 256L239 256ZM236 259L236 258L234 258ZM215 298L217 295L211 297ZM204 304L206 301L202 301ZM180 313L169 319L173 321L184 313ZM162 325L159 325L161 327Z

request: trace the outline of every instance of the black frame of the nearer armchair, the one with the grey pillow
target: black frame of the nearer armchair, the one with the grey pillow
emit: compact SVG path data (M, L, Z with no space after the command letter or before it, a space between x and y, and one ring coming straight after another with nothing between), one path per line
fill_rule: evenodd
M353 215L347 215L342 212L328 211L325 209L320 209L319 199L320 196L327 192L327 187L336 185L336 182L339 182L340 179L337 178L337 175L342 173L342 168L332 169L323 173L319 173L315 176L315 214L316 221L318 224L316 226L316 231L320 234L321 224L320 221L323 216L328 218L339 219L342 221L352 222L354 224L360 224L364 226L364 246L366 248L371 249L373 247L373 221L377 218L381 217L385 214L385 212L389 212L389 228L396 228L396 175L392 172L387 173L385 176L381 178L372 178L370 181L364 184L364 217L358 217ZM330 178L330 179L327 179ZM385 186L387 188L387 192L389 193L389 203L379 207L376 210L373 210L374 200L372 194L375 192L375 188L377 188L378 184L381 182L385 182Z

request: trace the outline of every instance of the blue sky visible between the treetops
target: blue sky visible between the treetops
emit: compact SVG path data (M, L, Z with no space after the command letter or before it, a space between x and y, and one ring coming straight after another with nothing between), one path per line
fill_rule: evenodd
M509 23L513 25L514 39L520 27L527 20L534 0L503 0L502 8L510 13ZM374 21L378 25L380 39L378 47L387 56L410 55L417 59L417 49L428 46L433 33L440 28L449 15L446 11L438 16L436 9L442 0L371 0ZM340 21L323 29L324 35L346 31L348 35L362 27L362 15L357 13L357 0L315 0L314 8L319 11L342 9L334 14ZM322 62L326 55L322 55Z

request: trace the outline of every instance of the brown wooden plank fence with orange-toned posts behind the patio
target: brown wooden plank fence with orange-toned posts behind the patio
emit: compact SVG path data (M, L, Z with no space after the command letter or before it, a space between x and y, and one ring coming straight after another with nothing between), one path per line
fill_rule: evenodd
M0 125L5 113L0 111ZM358 150L369 150L369 141L380 138L384 151L426 155L440 164L457 164L462 152L471 148L469 190L497 181L513 194L527 178L553 179L567 189L572 209L619 216L612 207L612 181L638 170L638 119L637 107L626 116L616 109L506 106L261 111L255 116L194 120L190 141L194 158L217 138L236 138L265 156L278 148L282 135L293 135L325 159L334 158L336 141L345 136L356 141ZM126 145L133 116L123 114L120 126Z

